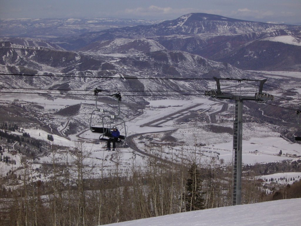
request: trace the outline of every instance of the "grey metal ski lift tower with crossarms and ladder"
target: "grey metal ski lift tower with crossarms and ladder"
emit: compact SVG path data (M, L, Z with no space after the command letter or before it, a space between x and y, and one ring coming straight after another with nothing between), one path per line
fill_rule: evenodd
M242 131L243 131L243 101L255 100L267 102L273 100L274 97L268 93L262 93L264 80L250 80L250 79L232 79L232 78L216 78L217 89L205 91L205 96L211 96L217 99L233 99L235 101L235 119L233 125L233 184L232 184L232 205L241 204L241 176L242 176ZM234 94L224 94L221 91L220 80L234 80L241 83L241 81L259 82L259 92L255 96L241 96Z

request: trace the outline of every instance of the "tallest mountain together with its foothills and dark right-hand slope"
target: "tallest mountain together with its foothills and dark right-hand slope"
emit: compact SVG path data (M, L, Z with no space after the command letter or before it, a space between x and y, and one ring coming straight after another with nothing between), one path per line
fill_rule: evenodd
M280 38L273 39L276 37ZM282 41L288 37L291 42ZM73 51L144 53L166 49L227 62L244 70L298 71L300 37L299 26L192 13L158 24L112 28L50 41Z

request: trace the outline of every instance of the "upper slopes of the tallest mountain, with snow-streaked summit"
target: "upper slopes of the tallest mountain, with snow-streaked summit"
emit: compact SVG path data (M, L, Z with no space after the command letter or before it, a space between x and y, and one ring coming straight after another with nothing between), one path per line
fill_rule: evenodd
M103 30L92 34L83 34L81 38L91 37L94 39L114 37L154 37L172 35L197 35L207 36L237 35L253 32L266 32L273 30L293 29L293 25L268 24L246 20L236 20L213 14L191 13L175 20L166 20L159 24L139 25L136 27L122 27Z

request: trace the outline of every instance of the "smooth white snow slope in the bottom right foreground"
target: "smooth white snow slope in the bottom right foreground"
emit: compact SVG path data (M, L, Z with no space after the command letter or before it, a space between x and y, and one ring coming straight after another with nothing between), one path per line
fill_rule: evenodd
M288 226L300 225L301 199L227 206L125 221L110 226Z

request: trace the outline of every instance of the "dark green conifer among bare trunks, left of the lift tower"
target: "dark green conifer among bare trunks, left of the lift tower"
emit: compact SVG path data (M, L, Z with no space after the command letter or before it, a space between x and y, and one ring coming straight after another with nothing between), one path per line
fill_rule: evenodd
M189 178L185 188L185 209L186 211L194 211L204 209L204 192L202 191L202 179L200 170L196 163L191 165L188 170Z

